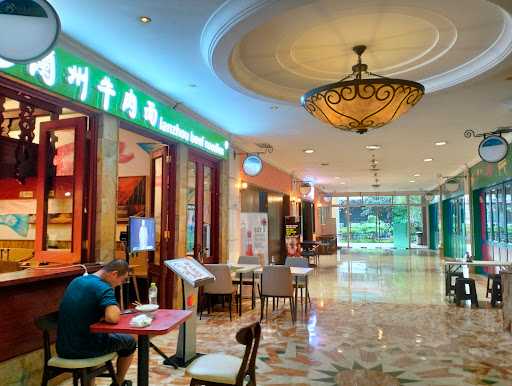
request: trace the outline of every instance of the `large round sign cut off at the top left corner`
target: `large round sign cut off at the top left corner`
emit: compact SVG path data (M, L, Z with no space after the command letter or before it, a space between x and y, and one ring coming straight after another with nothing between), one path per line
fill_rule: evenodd
M60 20L46 0L0 0L0 59L30 63L46 56L60 33Z

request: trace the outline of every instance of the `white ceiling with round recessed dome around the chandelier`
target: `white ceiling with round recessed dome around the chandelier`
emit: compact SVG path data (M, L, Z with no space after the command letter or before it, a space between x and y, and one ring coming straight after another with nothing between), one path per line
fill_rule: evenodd
M275 150L265 160L328 190L373 191L371 154L381 169L378 191L428 189L439 174L477 157L478 141L465 139L465 128L512 123L512 81L505 80L512 75L512 23L489 1L50 2L73 39L232 133L247 150L270 143ZM142 15L152 22L140 23ZM316 121L300 95L351 72L356 44L368 46L370 71L435 92L365 136ZM440 140L448 144L436 147ZM370 144L382 149L370 153ZM428 157L434 161L423 162Z

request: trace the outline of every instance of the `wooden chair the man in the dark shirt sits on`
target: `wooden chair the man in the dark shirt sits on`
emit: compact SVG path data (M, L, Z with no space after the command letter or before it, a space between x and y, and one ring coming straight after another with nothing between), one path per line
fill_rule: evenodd
M95 377L110 377L113 384L117 385L116 373L112 365L112 359L116 353L84 359L65 359L52 356L50 333L57 330L58 319L57 311L35 320L36 326L43 332L44 367L41 386L47 386L50 379L63 373L73 374L73 386L78 386L78 380L81 380L82 386L89 386Z

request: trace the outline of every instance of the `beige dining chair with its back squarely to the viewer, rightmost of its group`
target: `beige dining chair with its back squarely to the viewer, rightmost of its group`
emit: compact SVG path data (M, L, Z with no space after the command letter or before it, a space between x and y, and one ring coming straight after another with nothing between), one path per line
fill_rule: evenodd
M267 265L263 267L261 273L261 313L260 321L263 320L263 307L265 306L265 314L268 314L268 298L283 298L290 301L290 312L292 314L292 322L295 323L295 301L293 299L293 277L290 267L284 265Z

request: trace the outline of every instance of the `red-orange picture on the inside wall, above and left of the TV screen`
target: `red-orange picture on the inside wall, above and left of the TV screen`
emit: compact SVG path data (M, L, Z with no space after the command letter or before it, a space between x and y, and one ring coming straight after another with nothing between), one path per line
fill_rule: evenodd
M119 177L117 184L117 222L130 216L146 215L146 176Z

